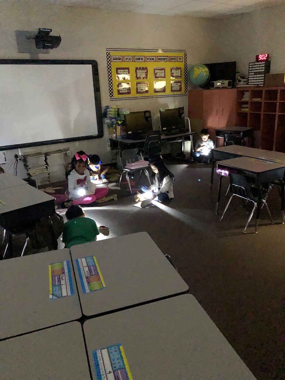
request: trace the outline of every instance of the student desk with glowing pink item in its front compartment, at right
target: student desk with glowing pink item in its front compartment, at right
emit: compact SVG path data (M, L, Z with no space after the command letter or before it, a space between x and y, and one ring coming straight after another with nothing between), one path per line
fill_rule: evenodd
M237 173L245 176L250 183L259 187L259 196L256 212L256 227L260 215L261 193L263 184L271 182L275 179L282 179L284 176L285 164L279 164L272 161L260 160L251 157L237 157L230 160L217 162L217 173L220 174L218 185L218 198L216 215L218 214L218 204L220 202L221 185L223 176L228 176L229 173ZM284 184L282 186L281 196L281 211L282 217L284 212Z

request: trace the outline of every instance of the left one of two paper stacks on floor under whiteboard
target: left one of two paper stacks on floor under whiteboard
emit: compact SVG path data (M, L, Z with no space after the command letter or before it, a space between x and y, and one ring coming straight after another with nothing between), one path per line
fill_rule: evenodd
M24 154L24 168L28 177L36 181L37 186L49 184L49 173L42 152Z

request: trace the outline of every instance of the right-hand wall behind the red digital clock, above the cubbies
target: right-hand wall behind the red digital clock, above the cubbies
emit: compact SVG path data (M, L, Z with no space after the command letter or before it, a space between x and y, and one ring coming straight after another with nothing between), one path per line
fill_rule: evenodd
M215 31L216 62L236 61L247 75L255 55L269 53L270 72L285 72L285 4L219 20Z

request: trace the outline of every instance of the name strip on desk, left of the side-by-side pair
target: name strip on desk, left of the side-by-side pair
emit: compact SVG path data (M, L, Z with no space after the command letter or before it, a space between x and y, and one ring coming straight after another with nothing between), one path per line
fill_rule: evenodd
M49 265L49 298L61 298L74 294L69 260Z

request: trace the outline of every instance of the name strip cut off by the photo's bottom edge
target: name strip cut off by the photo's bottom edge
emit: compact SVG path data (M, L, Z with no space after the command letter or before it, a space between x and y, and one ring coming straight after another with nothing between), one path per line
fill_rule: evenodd
M133 380L122 344L92 352L97 380Z

